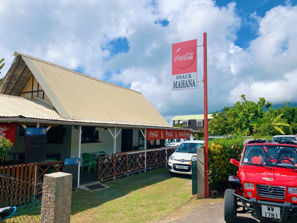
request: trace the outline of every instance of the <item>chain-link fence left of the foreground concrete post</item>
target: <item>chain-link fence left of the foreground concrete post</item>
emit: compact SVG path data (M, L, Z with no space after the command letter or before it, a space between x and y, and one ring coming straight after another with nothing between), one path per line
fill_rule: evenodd
M0 174L0 208L15 206L15 214L3 222L39 223L42 182Z

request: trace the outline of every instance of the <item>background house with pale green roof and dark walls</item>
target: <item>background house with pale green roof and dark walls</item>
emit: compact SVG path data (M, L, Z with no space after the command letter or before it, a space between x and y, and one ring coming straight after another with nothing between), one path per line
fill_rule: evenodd
M207 117L208 121L213 119L212 114L208 114ZM170 125L184 125L186 128L198 131L204 128L204 114L177 115L170 120Z

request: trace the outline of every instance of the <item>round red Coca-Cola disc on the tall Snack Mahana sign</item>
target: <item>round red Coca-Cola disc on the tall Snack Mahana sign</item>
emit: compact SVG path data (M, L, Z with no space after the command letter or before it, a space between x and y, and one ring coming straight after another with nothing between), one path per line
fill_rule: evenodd
M181 47L174 54L174 65L179 69L186 69L194 63L195 58L195 50L192 47Z

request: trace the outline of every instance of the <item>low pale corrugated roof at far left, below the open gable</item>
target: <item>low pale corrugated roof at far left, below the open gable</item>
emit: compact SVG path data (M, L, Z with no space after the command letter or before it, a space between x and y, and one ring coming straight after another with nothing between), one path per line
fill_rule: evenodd
M0 94L0 117L62 120L56 110L40 100Z

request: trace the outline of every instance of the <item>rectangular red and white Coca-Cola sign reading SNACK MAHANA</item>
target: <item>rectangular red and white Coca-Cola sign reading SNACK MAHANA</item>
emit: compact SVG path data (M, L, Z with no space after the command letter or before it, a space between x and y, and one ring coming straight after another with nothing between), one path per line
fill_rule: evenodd
M197 40L172 44L172 90L197 88Z

